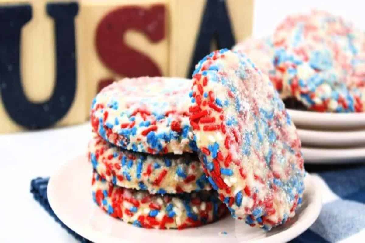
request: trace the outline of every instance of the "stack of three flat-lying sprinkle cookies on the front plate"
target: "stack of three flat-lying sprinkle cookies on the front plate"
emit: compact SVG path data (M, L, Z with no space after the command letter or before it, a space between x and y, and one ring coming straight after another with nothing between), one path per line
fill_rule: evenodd
M189 125L192 81L123 79L91 111L94 201L144 228L196 227L227 212L205 177Z

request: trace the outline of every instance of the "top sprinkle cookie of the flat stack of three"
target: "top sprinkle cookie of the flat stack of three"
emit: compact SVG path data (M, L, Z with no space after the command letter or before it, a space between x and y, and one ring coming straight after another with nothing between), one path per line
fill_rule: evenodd
M192 152L190 79L125 78L96 95L93 130L123 149L149 154Z

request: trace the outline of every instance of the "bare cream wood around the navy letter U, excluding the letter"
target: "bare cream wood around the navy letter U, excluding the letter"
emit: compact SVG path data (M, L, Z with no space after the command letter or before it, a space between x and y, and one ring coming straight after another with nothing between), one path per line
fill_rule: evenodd
M54 21L46 13L46 3L50 0L1 0L0 4L29 3L32 6L32 19L22 28L20 68L24 93L32 102L47 100L55 82L55 44ZM59 1L53 1L59 2ZM82 61L81 8L75 18L77 52L77 90L72 107L56 126L77 124L86 121L86 80ZM0 99L0 133L23 130L8 116Z

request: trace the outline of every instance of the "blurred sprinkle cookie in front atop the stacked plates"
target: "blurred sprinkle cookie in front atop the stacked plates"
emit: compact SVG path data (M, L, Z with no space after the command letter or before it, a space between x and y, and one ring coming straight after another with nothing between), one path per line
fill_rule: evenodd
M365 111L365 33L323 11L288 16L274 32L283 92L309 110Z

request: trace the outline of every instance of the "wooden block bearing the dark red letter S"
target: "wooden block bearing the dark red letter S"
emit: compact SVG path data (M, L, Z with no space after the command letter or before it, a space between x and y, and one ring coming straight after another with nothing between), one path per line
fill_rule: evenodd
M88 107L115 79L168 75L168 0L84 0L82 8Z

